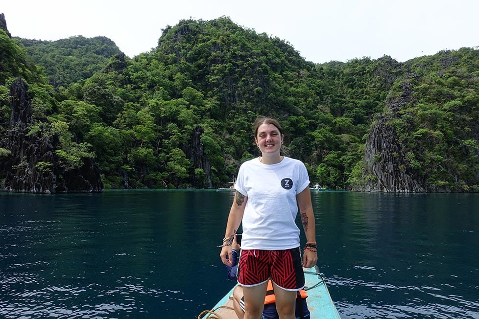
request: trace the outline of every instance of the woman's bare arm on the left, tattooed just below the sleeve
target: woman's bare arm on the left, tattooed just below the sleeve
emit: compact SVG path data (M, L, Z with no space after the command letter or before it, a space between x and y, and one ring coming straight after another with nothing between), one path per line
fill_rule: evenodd
M231 238L231 240L233 239L233 236L236 234L236 231L239 228L239 224L241 224L241 220L243 219L244 207L246 206L247 201L248 198L246 196L241 194L239 191L235 192L235 199L233 200L233 204L231 205L224 238ZM228 241L225 241L223 242L223 245L228 243ZM221 257L221 261L223 262L223 264L225 264L226 266L231 266L231 245L223 246L219 256Z

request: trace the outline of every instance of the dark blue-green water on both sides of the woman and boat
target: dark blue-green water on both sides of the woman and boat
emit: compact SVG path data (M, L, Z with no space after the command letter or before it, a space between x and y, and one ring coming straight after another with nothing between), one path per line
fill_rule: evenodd
M312 194L342 318L479 318L479 195ZM0 193L0 318L196 318L231 193ZM304 238L303 242L304 242Z

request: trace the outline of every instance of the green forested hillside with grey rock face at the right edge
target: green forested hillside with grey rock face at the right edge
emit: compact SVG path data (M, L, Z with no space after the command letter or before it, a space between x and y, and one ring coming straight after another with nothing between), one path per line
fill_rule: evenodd
M373 123L353 189L477 192L479 50L442 51L403 70Z

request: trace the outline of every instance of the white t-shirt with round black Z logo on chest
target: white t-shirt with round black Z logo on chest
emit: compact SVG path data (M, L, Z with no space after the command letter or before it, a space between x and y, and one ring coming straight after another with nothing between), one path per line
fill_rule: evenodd
M310 183L303 162L291 158L263 164L259 158L239 167L235 188L248 197L242 220L241 249L286 250L299 247L296 195Z

